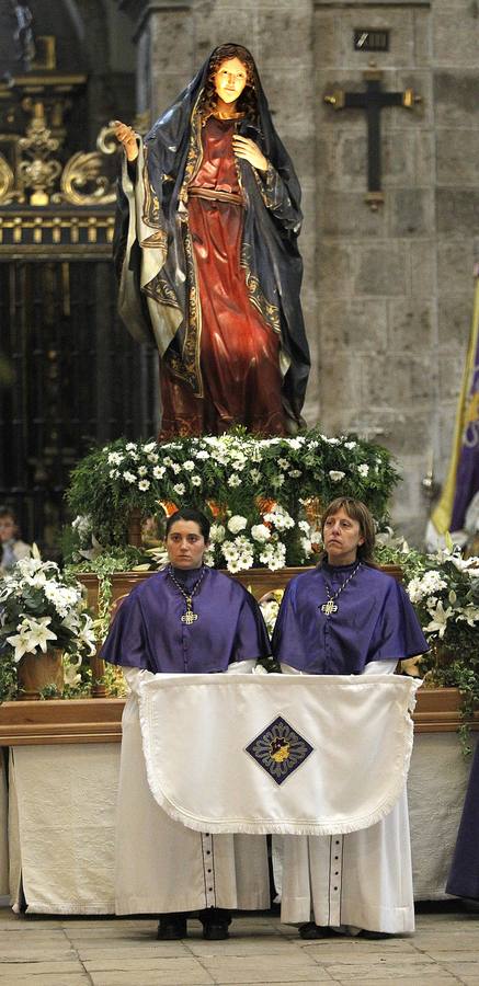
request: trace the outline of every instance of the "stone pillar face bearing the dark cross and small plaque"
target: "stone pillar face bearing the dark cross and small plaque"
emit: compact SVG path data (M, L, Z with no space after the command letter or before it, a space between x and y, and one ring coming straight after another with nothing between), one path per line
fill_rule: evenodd
M398 456L395 517L418 532L438 399L431 14L422 0L315 8L321 421L330 433L377 437ZM389 28L389 50L354 50L358 27ZM364 90L373 65L385 90L411 87L423 99L420 108L381 112L377 211L365 202L365 113L323 102L337 89Z

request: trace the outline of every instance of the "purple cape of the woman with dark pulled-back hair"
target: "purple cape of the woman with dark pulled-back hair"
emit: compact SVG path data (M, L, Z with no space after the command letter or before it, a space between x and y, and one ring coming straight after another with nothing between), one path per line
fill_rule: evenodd
M189 591L201 574L173 571ZM153 673L215 674L235 661L271 654L255 599L228 575L206 569L193 596L198 619L191 626L181 621L185 609L168 571L151 575L122 603L100 656Z

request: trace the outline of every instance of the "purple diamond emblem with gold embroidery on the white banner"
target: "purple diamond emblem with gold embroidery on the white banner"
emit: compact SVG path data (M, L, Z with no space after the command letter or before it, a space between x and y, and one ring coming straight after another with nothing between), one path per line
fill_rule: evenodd
M244 752L270 775L276 784L282 784L307 760L313 747L297 730L277 715L273 722L253 740Z

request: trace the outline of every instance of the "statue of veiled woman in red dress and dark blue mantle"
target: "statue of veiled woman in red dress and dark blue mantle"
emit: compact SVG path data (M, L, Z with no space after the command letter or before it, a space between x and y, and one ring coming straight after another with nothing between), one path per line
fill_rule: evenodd
M144 146L124 124L116 134L129 162L119 310L160 352L160 437L296 431L309 371L300 188L252 56L221 45Z

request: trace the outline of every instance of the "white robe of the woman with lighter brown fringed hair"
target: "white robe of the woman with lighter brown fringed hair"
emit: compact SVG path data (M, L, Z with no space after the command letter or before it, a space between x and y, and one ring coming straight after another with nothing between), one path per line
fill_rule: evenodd
M372 662L364 673L391 674L396 665ZM413 932L406 788L392 811L369 828L344 836L284 836L281 917L292 925L312 920L331 928Z

